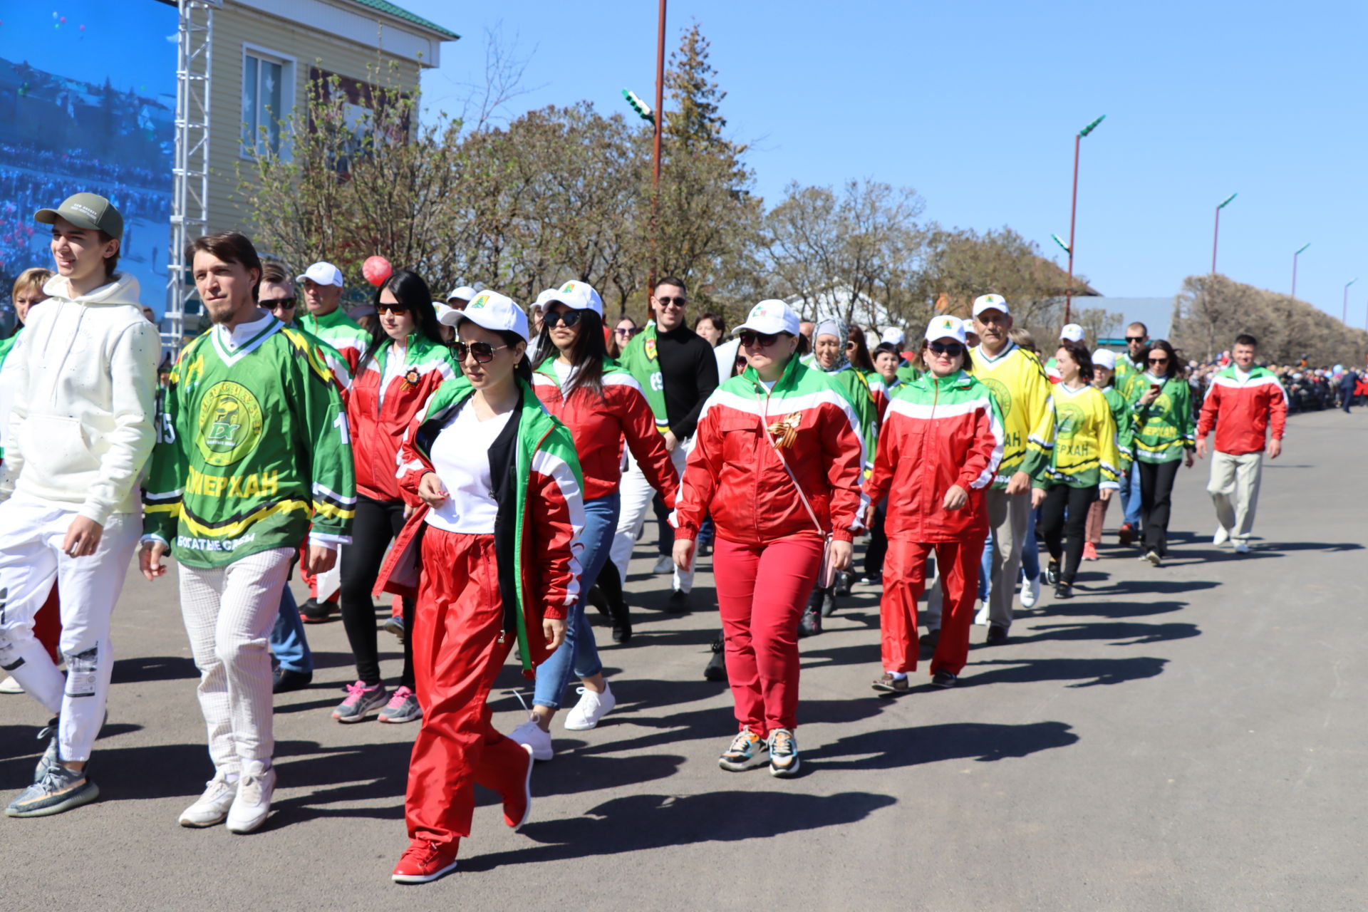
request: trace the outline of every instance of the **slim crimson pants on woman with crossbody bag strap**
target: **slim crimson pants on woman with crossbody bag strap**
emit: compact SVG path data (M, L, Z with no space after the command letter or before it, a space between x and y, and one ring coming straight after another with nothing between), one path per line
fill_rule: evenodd
M798 619L821 562L815 535L763 546L718 537L713 546L736 721L762 738L798 727Z

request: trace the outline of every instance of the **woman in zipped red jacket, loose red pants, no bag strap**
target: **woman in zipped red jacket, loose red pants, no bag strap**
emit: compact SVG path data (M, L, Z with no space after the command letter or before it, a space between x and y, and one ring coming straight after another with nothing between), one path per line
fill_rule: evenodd
M964 321L934 317L922 357L929 372L889 402L874 472L865 483L871 505L888 502L880 599L884 674L873 685L885 693L907 692L907 673L917 670L917 600L926 589L932 551L945 589L932 684L953 686L969 660L978 559L988 535L984 492L1003 455L1001 410L971 376Z

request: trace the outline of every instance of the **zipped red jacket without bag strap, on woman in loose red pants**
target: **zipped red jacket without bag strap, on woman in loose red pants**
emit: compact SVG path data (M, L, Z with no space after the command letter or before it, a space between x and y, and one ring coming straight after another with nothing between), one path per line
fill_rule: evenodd
M873 503L888 496L888 537L985 539L984 491L993 484L1003 439L997 401L969 373L944 380L928 373L899 387L878 435L874 472L865 483ZM969 502L947 510L945 492L956 484L969 492Z

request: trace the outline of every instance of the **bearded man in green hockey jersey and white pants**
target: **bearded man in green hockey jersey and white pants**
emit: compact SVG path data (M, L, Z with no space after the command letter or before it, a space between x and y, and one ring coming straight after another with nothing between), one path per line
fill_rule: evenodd
M237 232L186 250L213 327L181 351L144 491L142 574L181 565L181 613L200 670L215 774L181 826L271 811L272 675L267 637L290 563L324 573L349 541L356 481L346 413L324 346L257 306L261 261ZM312 521L312 529L309 524Z

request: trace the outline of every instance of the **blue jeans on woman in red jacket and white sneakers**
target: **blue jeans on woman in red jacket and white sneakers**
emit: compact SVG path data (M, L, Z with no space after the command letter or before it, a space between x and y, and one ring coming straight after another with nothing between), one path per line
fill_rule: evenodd
M616 492L584 502L584 532L580 533L580 543L584 546L580 551L580 600L565 618L565 643L557 647L551 658L536 670L532 706L560 710L565 685L570 682L572 675L591 678L603 670L603 663L598 658L598 644L594 643L594 628L584 614L584 603L613 546L620 505Z

